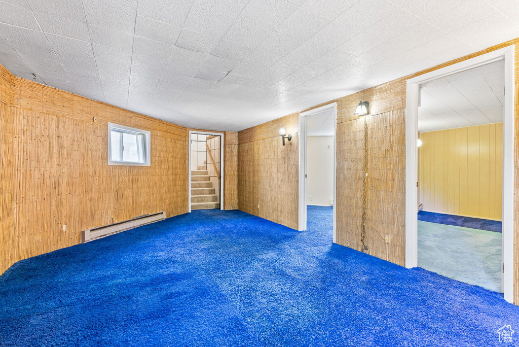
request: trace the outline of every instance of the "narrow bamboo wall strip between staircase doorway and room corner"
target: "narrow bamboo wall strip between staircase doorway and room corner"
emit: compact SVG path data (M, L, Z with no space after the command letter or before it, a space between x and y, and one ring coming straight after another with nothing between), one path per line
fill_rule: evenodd
M238 133L225 131L224 209L238 208Z

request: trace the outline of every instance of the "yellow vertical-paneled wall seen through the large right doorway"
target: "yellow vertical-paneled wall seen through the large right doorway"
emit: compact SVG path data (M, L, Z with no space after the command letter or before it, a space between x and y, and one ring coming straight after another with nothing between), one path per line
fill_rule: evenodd
M501 220L503 124L422 132L424 210Z

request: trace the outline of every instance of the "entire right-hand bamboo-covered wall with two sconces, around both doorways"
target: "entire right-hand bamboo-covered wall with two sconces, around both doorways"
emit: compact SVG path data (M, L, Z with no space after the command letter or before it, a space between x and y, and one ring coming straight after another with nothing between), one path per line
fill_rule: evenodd
M339 244L361 250L360 235L362 233L362 225L364 225L367 239L366 245L368 246L367 252L373 256L404 265L405 206L403 199L405 196L405 151L403 151L402 146L405 147L406 81L409 78L512 44L515 44L515 134L519 134L519 38L301 111L304 112L325 104L337 102L338 165L336 204L337 242ZM370 102L370 115L365 117L368 131L368 176L371 172L372 176L377 175L377 179L380 180L368 179L365 194L364 190L363 194L359 193L360 181L363 180L362 175L365 174L363 170L365 158L362 156L363 146L366 142L362 138L365 124L363 118L353 115L360 100ZM247 172L249 163L263 162L267 158L270 161L275 161L280 158L278 146L272 145L269 148L270 144L268 142L261 146L255 146L250 144L250 139L252 138L252 141L260 143L260 141L265 141L268 136L274 138L277 129L282 126L280 125L283 123L282 120L288 119L287 117L296 119L298 118L298 113L238 132L238 208L297 229L298 184L295 183L298 178L297 153L285 157L288 160L285 163L285 167L291 170L290 173L276 172L274 170L278 170L278 168L270 167L266 169L261 166L256 166L258 170L256 173ZM276 126L269 126L272 124L276 124ZM385 124L387 127L380 127L379 124ZM295 128L291 129L292 134L298 131L299 128L298 124L293 126ZM375 148L371 147L372 144L375 145ZM516 217L514 221L514 300L516 304L519 304L519 143L517 136L514 142L514 155L514 211ZM387 163L384 159L381 159L386 157L390 158ZM280 175L282 180L286 180L286 177L289 176L294 177L294 183L290 184L285 194L285 201L288 202L287 206L278 206L276 198L279 192L275 189L258 187L250 183L260 181L255 177L260 175L260 170L263 170L263 172L270 170L271 175ZM363 202L364 196L367 197L365 203ZM261 210L256 208L254 201L260 197L263 201L270 201L270 206L264 206ZM373 201L374 199L378 202ZM295 207L292 208L292 206ZM277 208L281 208L281 212L277 212ZM359 222L363 211L365 212L364 223ZM370 211L381 214L379 217L373 216L370 214ZM294 214L290 215L289 213ZM281 217L281 215L285 217ZM371 222L373 221L370 218L379 219L372 224ZM377 230L384 235L386 232L391 232L388 234L388 243L378 235Z

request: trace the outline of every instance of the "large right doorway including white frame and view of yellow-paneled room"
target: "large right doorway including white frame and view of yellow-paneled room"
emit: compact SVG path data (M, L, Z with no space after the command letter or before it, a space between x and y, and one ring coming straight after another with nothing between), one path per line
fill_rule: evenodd
M427 270L458 281L502 291L509 302L513 300L513 59L511 46L409 79L406 117L406 267L429 266ZM496 66L504 71L504 96L501 94L498 110L487 106L492 104L488 98L499 98L500 92L478 97L479 87L474 83L479 78L490 85L481 79L482 72L488 75ZM487 77L491 80L491 73ZM472 82L467 84L463 78ZM439 93L435 98L430 95L434 90ZM459 104L461 99L455 100L462 90L467 94L462 95L467 99L465 106ZM474 97L472 102L468 100ZM442 112L449 101L454 112ZM472 106L474 112L469 110ZM439 124L443 130L434 128ZM469 168L471 161L473 167ZM494 165L487 165L490 162ZM431 163L440 174L435 178L427 177L433 173ZM417 207L429 213L426 218L435 220L417 218ZM494 225L496 230L485 230L493 220L501 220L501 228ZM497 229L502 232L498 234ZM430 259L424 261L424 257Z

